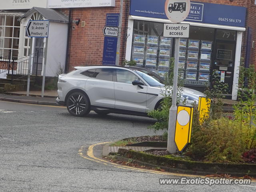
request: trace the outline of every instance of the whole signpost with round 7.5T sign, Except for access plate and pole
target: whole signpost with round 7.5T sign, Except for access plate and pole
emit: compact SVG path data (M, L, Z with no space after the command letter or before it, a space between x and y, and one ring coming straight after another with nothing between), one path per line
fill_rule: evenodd
M188 16L190 12L190 0L166 0L164 10L167 18L174 22L182 22ZM168 24L170 26L170 24ZM173 26L174 27L174 26ZM177 113L177 92L178 92L178 62L179 62L179 50L180 50L180 34L177 34L179 29L168 28L172 30L172 33L168 37L176 37L175 39L175 60L174 60L174 74L173 74L173 86L172 86L172 106L169 110L169 124L168 124L168 142L167 151L170 154L176 152L176 144L174 141L175 126L176 126L176 113ZM176 32L175 32L175 31ZM181 26L180 26L181 30ZM184 29L185 30L185 29ZM189 29L188 29L189 30ZM175 34L174 34L175 33Z

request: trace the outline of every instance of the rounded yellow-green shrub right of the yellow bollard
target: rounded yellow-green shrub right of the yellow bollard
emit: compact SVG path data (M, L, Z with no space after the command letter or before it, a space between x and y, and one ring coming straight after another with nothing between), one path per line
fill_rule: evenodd
M186 154L210 162L239 162L244 146L237 122L228 118L210 120L192 129L192 144Z

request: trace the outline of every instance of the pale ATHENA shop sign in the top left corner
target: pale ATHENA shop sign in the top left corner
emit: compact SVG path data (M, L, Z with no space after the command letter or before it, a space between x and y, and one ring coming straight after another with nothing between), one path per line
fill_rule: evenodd
M32 7L46 8L46 0L0 0L2 10L31 9Z

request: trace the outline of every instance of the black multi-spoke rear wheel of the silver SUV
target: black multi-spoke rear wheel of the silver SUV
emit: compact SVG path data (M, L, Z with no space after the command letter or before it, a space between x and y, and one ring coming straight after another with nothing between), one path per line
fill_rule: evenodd
M73 116L86 116L90 112L90 101L82 92L74 92L68 96L67 109Z

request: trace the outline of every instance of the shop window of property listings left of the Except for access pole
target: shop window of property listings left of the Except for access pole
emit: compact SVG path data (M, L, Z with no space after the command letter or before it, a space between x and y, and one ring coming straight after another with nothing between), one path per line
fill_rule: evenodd
M132 60L137 66L166 73L172 56L172 38L164 38L164 24L134 21Z

